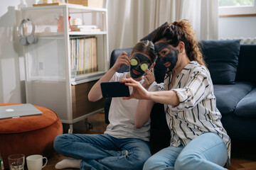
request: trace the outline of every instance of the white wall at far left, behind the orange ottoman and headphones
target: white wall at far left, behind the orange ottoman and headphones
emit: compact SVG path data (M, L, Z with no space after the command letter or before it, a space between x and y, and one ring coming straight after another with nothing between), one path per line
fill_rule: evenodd
M0 103L25 102L24 81L20 80L22 48L16 33L19 0L0 5Z

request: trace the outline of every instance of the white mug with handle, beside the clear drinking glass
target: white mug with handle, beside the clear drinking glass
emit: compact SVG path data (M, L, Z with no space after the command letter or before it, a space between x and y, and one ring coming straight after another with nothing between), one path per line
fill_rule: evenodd
M43 159L46 159L46 163L44 165ZM26 157L26 162L28 170L41 170L44 166L46 166L48 159L40 154L32 154L31 156Z

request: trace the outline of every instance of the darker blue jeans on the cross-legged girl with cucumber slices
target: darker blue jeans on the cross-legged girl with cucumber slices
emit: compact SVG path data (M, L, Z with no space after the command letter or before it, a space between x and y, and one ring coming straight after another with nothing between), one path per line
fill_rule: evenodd
M80 169L142 169L151 156L148 142L136 138L118 139L110 135L58 135L56 152L82 159Z

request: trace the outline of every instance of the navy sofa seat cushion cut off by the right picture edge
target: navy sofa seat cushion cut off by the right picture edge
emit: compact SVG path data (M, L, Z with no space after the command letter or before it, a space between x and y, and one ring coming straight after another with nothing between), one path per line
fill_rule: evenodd
M235 115L256 118L256 88L239 101Z

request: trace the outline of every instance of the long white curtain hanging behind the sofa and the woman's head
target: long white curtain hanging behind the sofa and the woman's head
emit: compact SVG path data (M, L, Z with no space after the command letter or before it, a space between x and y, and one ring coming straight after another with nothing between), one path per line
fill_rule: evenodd
M107 0L107 9L110 52L181 19L191 21L198 40L218 39L218 0Z

